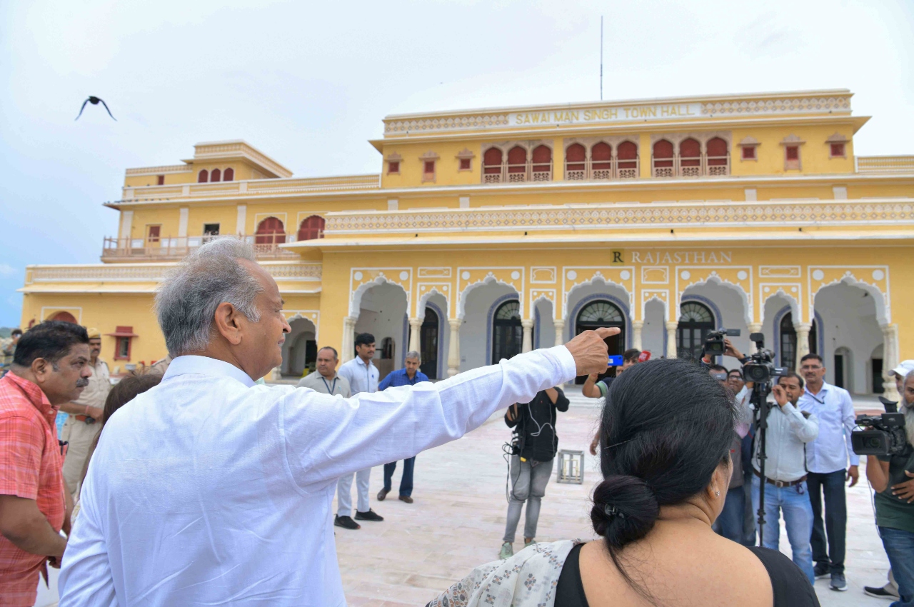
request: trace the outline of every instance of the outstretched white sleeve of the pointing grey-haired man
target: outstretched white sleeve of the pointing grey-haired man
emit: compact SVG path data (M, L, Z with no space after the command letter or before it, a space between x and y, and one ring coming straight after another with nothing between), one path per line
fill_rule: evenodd
M303 489L324 484L459 439L494 411L529 402L576 375L568 348L555 346L437 383L351 399L292 390L279 403L286 463Z

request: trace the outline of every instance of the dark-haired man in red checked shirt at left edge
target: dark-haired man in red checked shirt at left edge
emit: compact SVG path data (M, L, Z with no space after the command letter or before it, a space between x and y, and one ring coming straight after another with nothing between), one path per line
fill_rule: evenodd
M72 500L63 483L63 444L54 423L92 373L89 335L46 321L16 346L0 378L0 607L35 604L38 573L60 566Z

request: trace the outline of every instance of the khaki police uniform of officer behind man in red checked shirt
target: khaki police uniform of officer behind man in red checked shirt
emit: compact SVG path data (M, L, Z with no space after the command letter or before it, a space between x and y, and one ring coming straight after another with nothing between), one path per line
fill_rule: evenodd
M110 378L107 363L99 358L95 367L92 367L89 385L82 389L80 398L74 400L73 404L104 409L105 399L108 398L108 392L112 389ZM60 432L60 440L69 442L67 459L63 463L63 478L67 482L69 490L73 492L74 499L76 495L79 495L77 485L80 483L80 474L82 474L83 466L86 465L92 441L95 440L99 431L101 431L101 420L95 420L86 415L69 415L63 424L63 431Z

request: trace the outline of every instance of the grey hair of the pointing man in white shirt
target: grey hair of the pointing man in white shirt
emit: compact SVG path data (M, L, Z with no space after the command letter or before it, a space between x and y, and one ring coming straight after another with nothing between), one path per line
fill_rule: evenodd
M234 238L210 240L165 276L155 293L155 311L169 355L206 349L219 304L232 304L252 323L260 321L254 304L260 282L239 260L256 262L249 243Z

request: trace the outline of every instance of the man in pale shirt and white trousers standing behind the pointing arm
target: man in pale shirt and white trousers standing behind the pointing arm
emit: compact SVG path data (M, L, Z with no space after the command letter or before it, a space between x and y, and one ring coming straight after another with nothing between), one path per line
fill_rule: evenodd
M375 357L375 335L360 333L356 335L356 357L348 360L340 367L340 377L349 382L352 393L373 394L377 392L377 378L379 372L371 359ZM336 482L336 516L334 525L345 529L360 529L361 525L352 519L352 479L356 477L356 520L370 520L380 522L384 520L368 506L368 482L371 478L371 468L359 470L356 474L345 474Z

